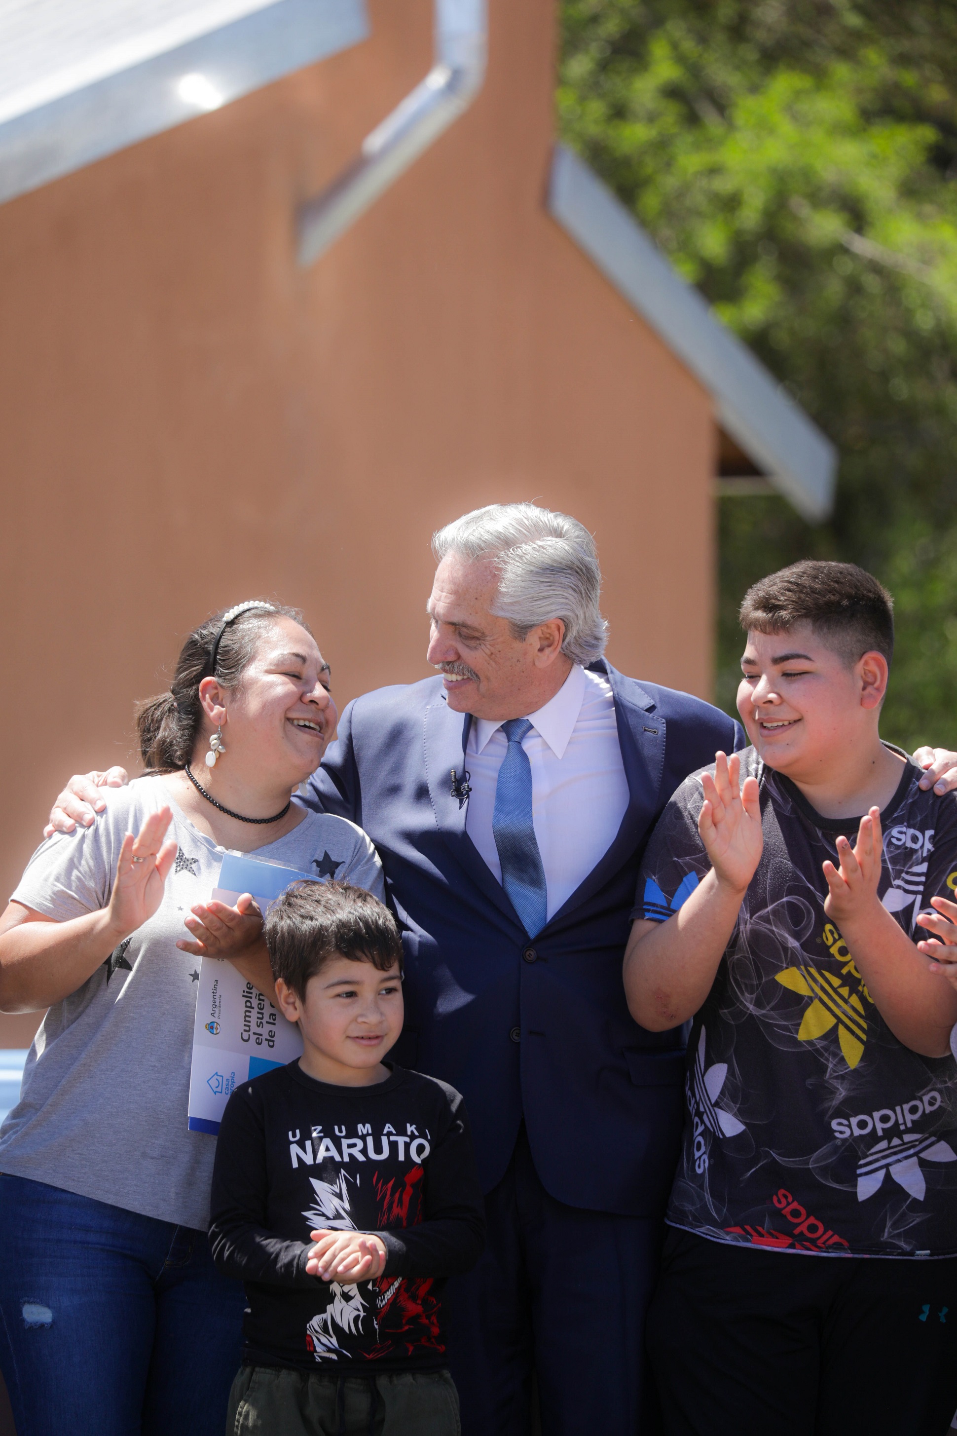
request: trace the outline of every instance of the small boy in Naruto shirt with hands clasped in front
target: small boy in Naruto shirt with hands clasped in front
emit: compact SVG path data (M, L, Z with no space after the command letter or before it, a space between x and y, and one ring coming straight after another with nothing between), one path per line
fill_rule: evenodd
M220 1130L209 1239L248 1300L227 1429L456 1436L442 1288L481 1255L482 1193L458 1091L385 1063L395 919L359 887L300 882L265 942L303 1055L237 1088Z

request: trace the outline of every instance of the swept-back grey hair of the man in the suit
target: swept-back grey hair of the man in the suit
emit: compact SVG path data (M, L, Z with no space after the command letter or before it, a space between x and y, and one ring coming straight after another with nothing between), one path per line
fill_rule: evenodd
M567 658L588 665L604 653L598 554L577 518L537 504L489 504L439 528L432 553L438 563L451 553L492 559L499 576L492 613L508 619L517 638L561 619Z

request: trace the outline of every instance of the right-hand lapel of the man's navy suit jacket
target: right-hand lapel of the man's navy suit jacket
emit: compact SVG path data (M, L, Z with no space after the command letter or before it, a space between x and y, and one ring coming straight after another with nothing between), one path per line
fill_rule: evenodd
M659 807L659 788L664 771L664 718L656 712L654 699L638 684L628 682L626 686L621 673L604 659L593 666L611 684L621 761L628 783L628 806L611 846L571 898L554 913L547 931L587 902L627 862L644 839Z

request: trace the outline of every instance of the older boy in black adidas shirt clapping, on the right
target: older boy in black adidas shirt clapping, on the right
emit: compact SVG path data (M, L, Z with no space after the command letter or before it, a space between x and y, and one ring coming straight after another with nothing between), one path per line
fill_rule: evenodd
M880 740L894 626L875 579L798 563L740 622L753 747L669 803L626 954L638 1022L693 1020L649 1317L666 1426L944 1436L957 992L915 918L953 896L957 798Z

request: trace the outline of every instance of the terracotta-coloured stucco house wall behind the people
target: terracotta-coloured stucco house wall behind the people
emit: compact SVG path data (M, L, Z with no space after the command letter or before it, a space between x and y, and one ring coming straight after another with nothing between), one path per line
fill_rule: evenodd
M296 204L430 63L430 0L370 13L369 42L0 208L4 893L208 610L301 605L340 702L422 676L429 534L482 503L577 514L613 662L709 689L710 404L544 210L552 0L492 0L473 108L297 269Z

